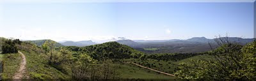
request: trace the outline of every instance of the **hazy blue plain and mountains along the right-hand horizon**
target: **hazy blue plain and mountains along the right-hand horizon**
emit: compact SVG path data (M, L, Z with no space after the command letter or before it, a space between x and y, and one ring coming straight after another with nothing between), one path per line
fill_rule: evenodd
M253 38L229 37L228 41L245 45L253 41ZM218 47L214 39L205 37L195 37L188 40L118 40L116 42L128 45L136 50L146 53L189 53L189 52L206 52L211 50L209 43L213 48ZM150 48L156 50L148 50Z

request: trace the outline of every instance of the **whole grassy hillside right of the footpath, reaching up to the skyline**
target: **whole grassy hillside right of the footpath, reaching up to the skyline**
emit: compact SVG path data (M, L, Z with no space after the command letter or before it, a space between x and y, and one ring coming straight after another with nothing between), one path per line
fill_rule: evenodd
M20 52L25 54L26 68L28 68L25 79L67 80L70 78L67 74L47 64L47 58L45 58L42 48L35 47L31 43L22 43L21 46Z

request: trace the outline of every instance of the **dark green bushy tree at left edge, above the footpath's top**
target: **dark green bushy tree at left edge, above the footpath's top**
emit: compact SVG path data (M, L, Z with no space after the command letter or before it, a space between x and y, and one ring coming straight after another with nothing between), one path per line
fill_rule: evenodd
M3 54L17 53L17 46L13 40L6 40L2 45Z

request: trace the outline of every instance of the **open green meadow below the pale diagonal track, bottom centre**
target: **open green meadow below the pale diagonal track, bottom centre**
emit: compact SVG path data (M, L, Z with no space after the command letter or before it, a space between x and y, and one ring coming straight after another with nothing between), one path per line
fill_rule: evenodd
M174 80L175 77L171 77L168 75L159 74L155 71L147 70L145 68L140 68L133 64L116 64L116 66L120 66L120 71L122 72L121 78L129 78L129 79L161 79L161 80Z

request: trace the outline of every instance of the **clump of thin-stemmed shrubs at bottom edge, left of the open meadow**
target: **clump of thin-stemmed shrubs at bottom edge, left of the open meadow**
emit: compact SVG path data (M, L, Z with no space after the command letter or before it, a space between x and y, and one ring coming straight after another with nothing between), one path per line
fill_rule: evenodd
M72 78L75 80L109 80L120 78L111 60L97 63L88 54L81 54L72 64Z

